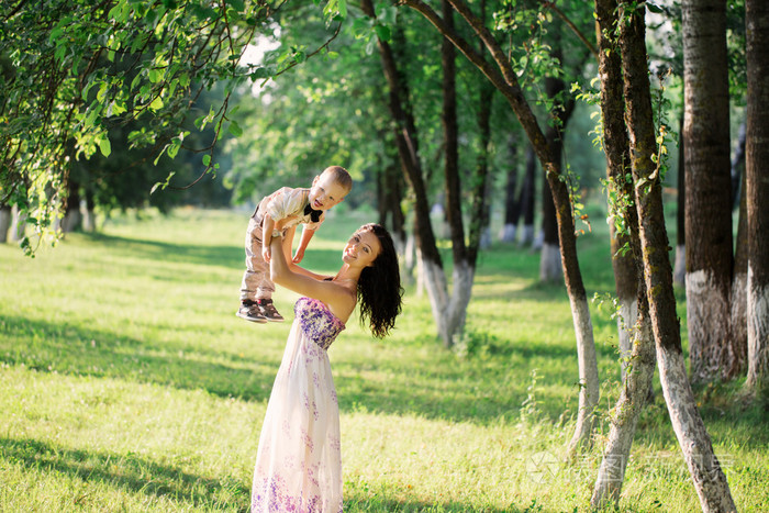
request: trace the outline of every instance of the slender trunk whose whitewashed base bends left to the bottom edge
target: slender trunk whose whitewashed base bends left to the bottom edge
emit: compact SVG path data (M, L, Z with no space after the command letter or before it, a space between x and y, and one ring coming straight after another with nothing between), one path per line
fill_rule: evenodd
M643 269L638 218L634 208L623 207L633 198L629 141L625 126L625 102L620 48L614 27L616 0L597 0L599 75L603 116L610 220L612 220L612 267L620 301L617 330L624 387L611 416L609 439L599 468L591 506L616 504L625 479L638 416L651 390L655 345ZM625 200L623 200L625 199ZM617 230L618 226L618 230Z

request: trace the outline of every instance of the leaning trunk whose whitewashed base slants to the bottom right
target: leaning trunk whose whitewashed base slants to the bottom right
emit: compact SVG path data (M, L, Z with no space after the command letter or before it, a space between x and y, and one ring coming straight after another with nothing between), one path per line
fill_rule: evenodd
M631 4L625 4L632 9ZM620 44L643 250L644 279L657 347L659 376L668 413L703 511L736 511L726 476L696 409L683 361L681 327L676 312L672 268L668 257L662 187L651 156L657 154L656 130L646 55L644 4L624 13ZM689 243L691 238L687 237ZM688 246L691 244L688 244Z

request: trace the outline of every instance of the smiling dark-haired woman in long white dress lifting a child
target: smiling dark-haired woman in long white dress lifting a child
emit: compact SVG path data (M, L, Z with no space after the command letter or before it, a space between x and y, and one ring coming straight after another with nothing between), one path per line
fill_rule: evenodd
M339 408L326 349L357 302L360 322L381 338L394 326L403 289L390 234L360 226L342 268L322 277L289 264L272 239L270 278L303 294L272 387L256 455L252 512L342 511Z

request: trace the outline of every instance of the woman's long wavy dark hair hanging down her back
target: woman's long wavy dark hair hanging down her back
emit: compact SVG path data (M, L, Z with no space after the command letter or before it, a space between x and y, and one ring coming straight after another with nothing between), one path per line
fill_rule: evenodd
M392 237L380 224L365 224L358 233L371 232L381 244L381 252L358 279L358 304L360 323L368 319L371 333L377 338L384 337L395 325L395 317L401 313L403 288L398 267L398 253Z

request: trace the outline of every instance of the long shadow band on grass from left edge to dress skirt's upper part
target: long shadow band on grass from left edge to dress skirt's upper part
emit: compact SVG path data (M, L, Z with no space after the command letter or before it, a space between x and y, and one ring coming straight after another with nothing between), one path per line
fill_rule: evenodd
M279 361L254 361L196 347L172 350L111 332L0 315L0 361L37 371L112 377L180 389L203 389L248 401L269 398ZM27 341L13 344L12 341ZM11 341L9 344L8 341ZM169 354L170 353L170 354Z

